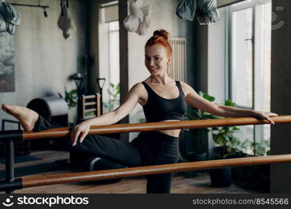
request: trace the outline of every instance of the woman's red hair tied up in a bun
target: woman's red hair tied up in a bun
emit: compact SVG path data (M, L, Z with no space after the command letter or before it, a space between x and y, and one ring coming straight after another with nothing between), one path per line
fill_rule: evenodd
M161 29L154 31L154 35L147 40L147 43L144 47L149 47L152 45L162 45L165 47L167 51L167 56L172 56L172 47L169 42L170 33L167 33L167 31Z

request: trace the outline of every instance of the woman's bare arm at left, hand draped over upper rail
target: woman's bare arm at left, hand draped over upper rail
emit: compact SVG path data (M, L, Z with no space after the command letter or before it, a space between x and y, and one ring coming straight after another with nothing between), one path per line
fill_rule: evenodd
M117 109L114 109L114 111L110 111L106 114L103 114L102 116L99 116L97 118L91 118L76 125L70 133L70 138L73 142L73 146L77 144L77 139L79 137L80 143L82 143L84 138L87 136L91 125L111 125L113 123L117 123L122 118L130 114L140 98L140 85L142 84L138 83L130 88L130 91L128 92L128 95L126 96L124 102L119 107L117 107Z

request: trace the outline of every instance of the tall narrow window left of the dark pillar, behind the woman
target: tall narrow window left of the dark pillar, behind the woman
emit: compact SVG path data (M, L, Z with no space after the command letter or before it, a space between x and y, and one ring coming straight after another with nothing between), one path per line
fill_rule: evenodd
M99 9L99 77L103 86L103 113L119 106L119 20L118 1L104 3Z

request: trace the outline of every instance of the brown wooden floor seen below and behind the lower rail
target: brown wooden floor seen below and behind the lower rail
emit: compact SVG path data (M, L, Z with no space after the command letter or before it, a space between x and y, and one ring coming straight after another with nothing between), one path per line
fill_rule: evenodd
M41 163L54 162L55 160L68 159L68 153L62 151L41 151L33 153L34 156L43 157L42 160L33 162L24 162L16 164L16 167L31 166ZM0 164L0 169L4 169L3 164ZM45 173L38 173L29 176L47 176L57 173L75 172L72 169L61 169ZM146 180L144 177L124 178L118 183L98 184L98 183L70 183L61 185L48 185L43 187L31 187L26 189L16 190L15 193L124 193L124 194L144 194L146 191ZM242 189L232 184L230 187L211 187L208 173L198 173L195 178L185 178L184 176L175 175L172 180L172 193L187 194L187 193L258 193Z

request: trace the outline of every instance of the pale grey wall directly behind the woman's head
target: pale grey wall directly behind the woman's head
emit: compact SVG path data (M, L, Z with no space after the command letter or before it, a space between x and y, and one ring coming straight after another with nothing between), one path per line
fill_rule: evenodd
M145 2L145 1L144 1ZM144 66L144 45L152 36L156 29L167 30L172 37L182 36L187 38L187 67L189 71L193 70L193 23L180 20L175 11L179 1L176 0L161 0L147 1L151 4L151 26L148 33L144 36L138 36L136 33L128 33L128 87L131 88L137 82L142 82L150 76L147 68ZM190 72L192 75L193 72ZM140 123L139 119L143 118L144 114L142 106L137 104L137 107L130 114L130 123ZM137 133L130 133L130 140L134 139Z

